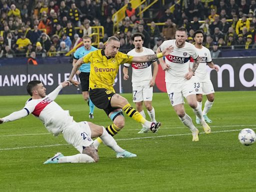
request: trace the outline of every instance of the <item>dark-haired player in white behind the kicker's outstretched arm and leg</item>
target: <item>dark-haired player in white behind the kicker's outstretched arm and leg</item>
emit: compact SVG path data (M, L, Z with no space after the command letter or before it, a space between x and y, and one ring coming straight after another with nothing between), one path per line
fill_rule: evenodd
M144 35L140 32L133 33L132 41L135 46L132 50L127 52L128 55L131 56L142 56L142 55L148 55L148 54L154 54L154 51L143 47L143 40ZM153 64L153 75L152 75L152 65ZM123 64L123 79L127 80L129 78L128 75L128 67L130 66L129 63ZM133 102L136 103L136 109L137 111L145 118L145 113L143 110L143 103L146 107L147 113L150 117L151 122L155 122L155 112L154 108L152 106L152 97L153 97L153 86L155 83L155 77L158 71L158 64L155 60L142 62L142 63L131 63L132 67L132 76L131 76L131 82L132 82L132 94L133 94ZM148 132L148 128L143 126L142 129L138 133Z

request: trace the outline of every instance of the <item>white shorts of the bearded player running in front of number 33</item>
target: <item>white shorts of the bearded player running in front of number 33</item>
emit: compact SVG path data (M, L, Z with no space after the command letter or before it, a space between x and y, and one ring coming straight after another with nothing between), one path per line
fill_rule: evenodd
M166 82L166 90L172 106L183 104L184 97L195 94L191 80L186 80L182 83Z

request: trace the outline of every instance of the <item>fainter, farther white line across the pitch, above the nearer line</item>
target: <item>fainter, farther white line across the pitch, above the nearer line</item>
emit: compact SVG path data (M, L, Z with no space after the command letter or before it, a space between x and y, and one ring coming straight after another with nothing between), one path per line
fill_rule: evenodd
M256 126L256 124L241 124L241 125L216 125L216 126L210 126L210 127L239 127L239 126ZM200 127L200 126L196 126ZM175 128L187 128L186 126L177 126L177 127L169 127L169 128L160 128L160 129L175 129ZM128 131L128 130L140 130L140 129L122 129L122 131ZM44 134L51 134L51 133L28 133L28 134L7 134L7 135L0 135L0 137L5 137L5 136L32 136L32 135L44 135Z

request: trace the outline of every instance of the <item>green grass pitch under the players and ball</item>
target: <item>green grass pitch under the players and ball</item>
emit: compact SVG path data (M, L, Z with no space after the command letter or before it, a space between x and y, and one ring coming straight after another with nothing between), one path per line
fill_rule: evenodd
M206 135L196 125L201 134L192 142L167 94L154 93L156 119L162 124L158 132L137 134L141 125L125 116L125 126L114 138L137 157L116 159L102 144L97 163L44 165L56 152L77 151L62 135L48 134L32 115L0 124L0 191L255 191L256 144L243 146L237 139L240 129L256 128L255 94L216 92L208 113L212 133ZM132 102L130 93L122 95ZM21 109L27 98L0 96L0 117ZM76 121L89 120L81 95L59 95L56 101ZM194 122L192 109L185 108ZM91 121L111 123L100 109Z

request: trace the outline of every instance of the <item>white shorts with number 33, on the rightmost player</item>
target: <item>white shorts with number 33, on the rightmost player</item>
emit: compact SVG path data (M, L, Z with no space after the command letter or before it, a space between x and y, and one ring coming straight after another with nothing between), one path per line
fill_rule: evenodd
M197 76L193 76L193 87L196 94L210 94L214 93L212 82L209 78L201 81Z

